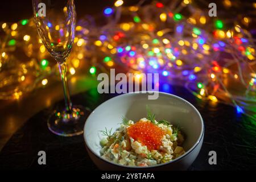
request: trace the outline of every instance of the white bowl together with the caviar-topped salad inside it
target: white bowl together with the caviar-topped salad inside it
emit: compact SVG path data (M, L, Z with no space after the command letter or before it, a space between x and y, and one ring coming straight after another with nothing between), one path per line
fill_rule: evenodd
M185 170L196 159L204 138L199 111L172 94L149 94L122 94L89 115L85 145L98 168Z

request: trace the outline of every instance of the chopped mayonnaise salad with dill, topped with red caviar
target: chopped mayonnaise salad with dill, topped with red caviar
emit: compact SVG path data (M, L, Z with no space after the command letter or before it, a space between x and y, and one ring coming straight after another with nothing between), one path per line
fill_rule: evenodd
M102 158L125 166L154 166L185 153L179 127L156 121L154 115L136 123L123 119L117 131L105 129L101 133L106 136L100 142Z

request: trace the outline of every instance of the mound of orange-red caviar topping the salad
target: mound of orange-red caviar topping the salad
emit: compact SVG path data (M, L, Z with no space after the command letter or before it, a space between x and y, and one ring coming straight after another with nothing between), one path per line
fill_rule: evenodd
M151 122L139 121L127 129L129 137L147 146L148 150L159 150L162 138L166 134L160 127Z

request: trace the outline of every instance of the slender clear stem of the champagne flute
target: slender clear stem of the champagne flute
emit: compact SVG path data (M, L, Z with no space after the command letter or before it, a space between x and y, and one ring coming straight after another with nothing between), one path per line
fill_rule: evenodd
M64 99L65 99L65 109L67 113L72 112L72 102L69 95L69 89L68 89L68 80L67 80L67 67L66 62L58 63L59 64L59 71L60 71L60 77L63 85L63 91L64 91Z

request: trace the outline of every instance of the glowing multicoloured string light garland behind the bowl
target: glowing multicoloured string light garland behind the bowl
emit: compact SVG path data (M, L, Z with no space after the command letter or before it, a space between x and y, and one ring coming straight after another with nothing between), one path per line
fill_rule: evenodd
M130 68L129 72L158 72L163 82L179 82L197 98L232 104L237 113L255 120L255 39L248 30L250 15L237 16L230 23L227 18L209 17L208 6L200 9L190 0L152 1L145 5L143 2L125 6L125 1L115 1L113 7L103 10L104 26L97 26L88 18L79 20L69 73L77 73L85 56L90 56L92 65L88 73L92 75L108 72L117 64ZM235 3L223 1L223 9ZM255 11L254 5L250 7ZM1 31L8 38L0 42L5 45L0 50L0 72L15 47L22 47L31 59L25 67L36 70L36 80L46 85L46 77L57 69L49 64L46 48L29 27L35 27L32 19L1 23ZM35 50L40 54L33 53ZM20 82L26 80L26 74L20 73ZM163 87L168 89L166 84ZM19 98L17 94L14 92L9 98Z

